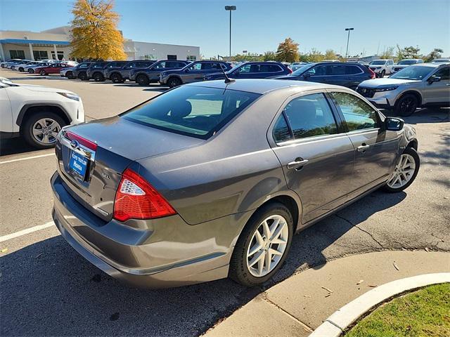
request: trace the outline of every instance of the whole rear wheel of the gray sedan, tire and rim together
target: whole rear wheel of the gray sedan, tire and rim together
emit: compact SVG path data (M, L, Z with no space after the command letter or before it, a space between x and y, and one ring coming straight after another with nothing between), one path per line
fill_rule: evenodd
M271 226L275 225L276 220L278 220L278 227L271 228ZM267 234L266 230L264 230L264 223L268 225L267 228L269 228L271 234ZM277 235L271 239L267 239L267 237L273 235L278 230L280 231L279 236ZM244 286L259 286L264 284L283 265L286 256L288 256L293 234L293 217L286 206L278 202L262 206L248 220L247 225L245 225L243 232L240 234L238 242L234 247L233 255L231 256L229 277ZM259 246L261 249L258 249ZM250 249L258 250L252 252ZM274 251L278 253L271 255L271 252L273 253ZM259 256L257 254L261 258L258 258ZM268 257L271 261L269 265L266 263ZM254 264L250 265L251 263ZM260 276L257 274L260 274Z

